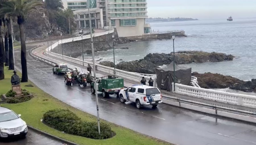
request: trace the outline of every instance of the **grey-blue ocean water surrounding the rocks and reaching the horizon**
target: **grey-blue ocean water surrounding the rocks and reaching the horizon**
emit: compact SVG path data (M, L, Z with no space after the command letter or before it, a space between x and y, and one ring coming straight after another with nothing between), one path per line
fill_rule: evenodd
M150 23L152 30L166 32L184 30L188 37L176 37L175 51L197 50L232 54L233 61L218 63L193 63L183 65L192 67L199 73L212 72L230 75L241 80L256 78L256 18L236 19L233 21L198 20L183 22ZM119 49L120 47L129 49ZM172 40L137 41L118 44L115 47L116 63L142 59L148 53L170 53L173 51ZM95 53L96 59L113 61L113 50ZM81 57L79 57L81 58ZM90 55L85 55L91 59ZM122 59L122 60L120 60Z

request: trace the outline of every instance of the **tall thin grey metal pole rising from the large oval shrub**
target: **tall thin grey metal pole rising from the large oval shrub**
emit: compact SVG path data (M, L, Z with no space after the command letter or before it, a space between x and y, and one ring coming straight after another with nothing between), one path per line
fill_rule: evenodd
M99 114L99 102L98 102L98 91L96 85L96 69L95 69L95 61L94 61L94 49L93 49L93 39L92 39L92 22L90 15L90 7L88 7L89 13L89 23L90 23L90 34L91 34L91 47L92 47L92 65L93 65L93 74L94 74L94 89L95 89L95 97L96 97L96 105L97 105L97 119L98 119L98 132L100 134L100 114Z

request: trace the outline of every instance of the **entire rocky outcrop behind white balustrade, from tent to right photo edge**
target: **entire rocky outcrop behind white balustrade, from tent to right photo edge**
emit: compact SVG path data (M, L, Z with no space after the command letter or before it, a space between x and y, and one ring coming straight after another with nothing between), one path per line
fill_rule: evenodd
M230 88L234 90L240 90L244 92L256 92L256 79L251 81L243 81L232 76L225 76L222 74L204 73L199 74L193 72L192 76L197 77L197 81L202 88Z

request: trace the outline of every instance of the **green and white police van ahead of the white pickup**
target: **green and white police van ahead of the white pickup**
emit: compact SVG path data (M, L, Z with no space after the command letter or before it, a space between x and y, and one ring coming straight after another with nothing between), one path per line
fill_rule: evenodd
M94 82L91 84L91 92L95 94ZM119 96L119 92L124 88L123 78L118 78L112 75L102 77L96 80L97 91L102 92L103 98L111 94Z

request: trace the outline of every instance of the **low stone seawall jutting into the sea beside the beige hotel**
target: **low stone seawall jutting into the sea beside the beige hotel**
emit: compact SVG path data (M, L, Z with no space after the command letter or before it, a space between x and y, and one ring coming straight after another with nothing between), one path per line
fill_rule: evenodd
M159 39L172 39L172 35L178 37L186 37L185 32L172 32L172 33L160 33L160 34L148 34L143 36L127 37L129 40L159 40Z

